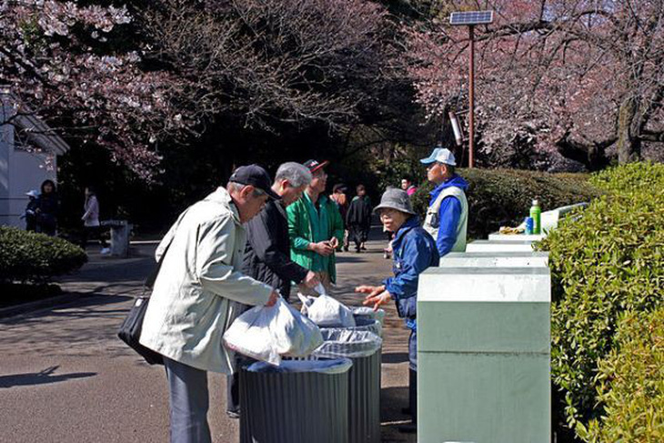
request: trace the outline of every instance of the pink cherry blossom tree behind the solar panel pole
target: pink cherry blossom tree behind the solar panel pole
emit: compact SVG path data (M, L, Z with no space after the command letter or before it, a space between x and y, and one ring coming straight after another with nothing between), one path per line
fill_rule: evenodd
M468 83L468 30L447 14L496 11L476 29L479 142L493 161L520 143L545 163L561 155L596 169L609 147L624 163L664 142L664 1L426 3L428 22L408 29L408 71L431 116Z

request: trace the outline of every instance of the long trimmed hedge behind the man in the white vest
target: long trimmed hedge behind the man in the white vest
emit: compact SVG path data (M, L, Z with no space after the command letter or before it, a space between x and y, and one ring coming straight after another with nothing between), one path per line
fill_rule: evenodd
M459 169L468 181L468 236L487 237L501 226L517 226L528 216L533 198L543 211L588 202L602 193L590 186L587 175L547 174L515 169ZM413 206L423 216L431 184L413 196Z

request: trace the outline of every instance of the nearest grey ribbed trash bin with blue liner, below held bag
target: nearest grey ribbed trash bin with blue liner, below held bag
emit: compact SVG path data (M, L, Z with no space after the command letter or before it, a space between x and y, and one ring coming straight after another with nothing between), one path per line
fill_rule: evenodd
M257 362L240 372L241 443L347 443L348 358Z

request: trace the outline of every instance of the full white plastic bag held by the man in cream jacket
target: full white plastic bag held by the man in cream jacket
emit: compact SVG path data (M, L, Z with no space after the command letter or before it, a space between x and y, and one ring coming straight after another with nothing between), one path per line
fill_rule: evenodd
M281 356L307 357L323 343L320 329L279 297L271 307L252 307L224 333L226 347L273 365Z

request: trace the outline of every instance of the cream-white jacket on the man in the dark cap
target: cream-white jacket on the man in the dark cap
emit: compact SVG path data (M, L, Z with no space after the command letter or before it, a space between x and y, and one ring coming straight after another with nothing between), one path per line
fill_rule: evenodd
M169 243L140 342L188 366L229 374L233 355L222 336L238 303L264 305L272 287L240 272L246 231L226 189L218 187L179 216L157 247L157 260Z

